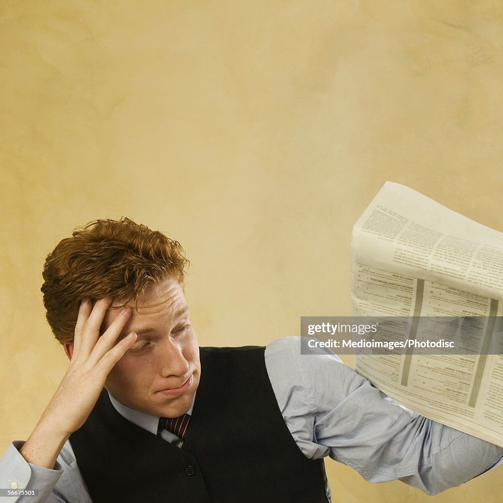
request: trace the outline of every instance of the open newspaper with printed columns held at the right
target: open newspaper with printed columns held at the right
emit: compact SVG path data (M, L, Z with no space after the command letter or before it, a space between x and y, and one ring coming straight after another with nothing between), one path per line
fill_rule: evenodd
M503 233L387 182L353 229L351 297L353 316L490 323L503 315ZM356 350L355 369L413 411L503 447L503 351L489 354L478 333L462 355Z

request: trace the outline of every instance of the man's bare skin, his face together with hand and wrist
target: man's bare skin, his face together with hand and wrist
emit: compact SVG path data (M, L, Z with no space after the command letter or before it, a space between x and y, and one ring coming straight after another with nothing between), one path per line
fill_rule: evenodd
M80 302L74 340L64 344L68 370L20 451L29 463L54 467L104 385L120 402L152 415L189 410L201 365L181 285L159 283L123 309L112 303L111 297Z

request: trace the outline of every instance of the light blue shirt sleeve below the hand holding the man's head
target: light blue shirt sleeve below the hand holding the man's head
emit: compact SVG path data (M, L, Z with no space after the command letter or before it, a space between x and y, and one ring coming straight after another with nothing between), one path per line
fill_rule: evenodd
M28 463L19 452L23 444L12 442L0 459L0 487L34 489L38 495L0 495L0 503L92 503L69 441L52 470Z

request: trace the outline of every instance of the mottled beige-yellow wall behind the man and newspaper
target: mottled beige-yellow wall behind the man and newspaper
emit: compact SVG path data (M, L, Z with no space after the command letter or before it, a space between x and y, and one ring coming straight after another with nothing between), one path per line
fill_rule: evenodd
M351 229L386 180L503 231L502 49L484 0L4 0L0 448L64 374L41 269L75 226L180 240L215 346L348 314ZM500 470L433 500L499 501ZM327 471L334 501L432 501Z

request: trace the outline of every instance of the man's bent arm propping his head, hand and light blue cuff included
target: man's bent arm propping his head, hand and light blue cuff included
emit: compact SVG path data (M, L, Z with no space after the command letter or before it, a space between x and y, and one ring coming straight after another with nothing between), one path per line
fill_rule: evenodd
M100 327L112 298L80 304L73 343L65 345L70 358L68 370L59 384L49 405L29 439L18 452L19 445L11 445L0 461L0 479L3 487L16 488L16 480L27 481L28 487L39 490L39 497L8 497L9 501L65 501L57 494L50 494L61 476L56 465L64 443L78 430L91 413L109 372L134 344L136 334L119 336L131 316L131 308L123 307L120 315L100 337ZM117 342L119 340L119 342ZM23 458L26 460L25 463ZM19 488L24 488L19 486ZM83 491L85 492L85 491ZM47 499L49 497L49 499ZM0 495L0 501L3 501ZM6 499L7 500L7 499Z

